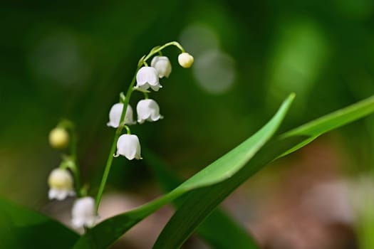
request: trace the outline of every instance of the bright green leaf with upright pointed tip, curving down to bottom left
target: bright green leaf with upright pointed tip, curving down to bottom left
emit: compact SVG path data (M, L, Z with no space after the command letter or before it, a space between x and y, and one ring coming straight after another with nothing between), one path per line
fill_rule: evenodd
M199 171L168 194L140 206L133 211L108 218L94 228L89 229L87 233L78 240L74 248L108 248L115 240L120 238L123 233L128 231L143 218L157 211L157 209L164 206L166 203L175 200L175 198L193 189L217 184L220 181L230 178L239 171L269 139L271 139L282 120L284 120L284 116L289 110L294 97L294 94L289 95L282 103L278 112L276 112L276 115L253 136L239 144L238 147L232 149L232 151L228 152L217 161L214 161L212 164L202 169L202 171Z

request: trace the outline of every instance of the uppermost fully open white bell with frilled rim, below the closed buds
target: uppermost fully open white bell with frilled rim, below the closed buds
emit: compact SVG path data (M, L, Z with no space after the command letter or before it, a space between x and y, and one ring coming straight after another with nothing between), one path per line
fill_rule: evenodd
M162 88L158 80L158 72L152 67L142 67L137 71L136 74L136 86L135 88L140 88L142 90L147 90L152 88L154 91L158 91Z

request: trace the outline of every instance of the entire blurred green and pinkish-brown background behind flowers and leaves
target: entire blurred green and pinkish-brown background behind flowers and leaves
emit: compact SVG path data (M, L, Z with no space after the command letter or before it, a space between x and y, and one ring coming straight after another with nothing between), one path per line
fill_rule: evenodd
M150 94L165 119L132 131L183 178L256 132L289 92L297 97L281 131L374 92L369 0L0 6L0 195L67 222L69 201L47 200L47 176L60 162L48 132L63 117L76 123L81 178L95 195L114 133L108 112L153 46L179 41L195 62L185 70L176 49L165 51L172 74ZM266 167L224 208L265 248L374 246L373 124L373 117L350 124ZM106 193L109 215L161 191L143 161L118 158ZM126 245L147 248L170 213L146 220ZM197 241L186 248L204 247Z

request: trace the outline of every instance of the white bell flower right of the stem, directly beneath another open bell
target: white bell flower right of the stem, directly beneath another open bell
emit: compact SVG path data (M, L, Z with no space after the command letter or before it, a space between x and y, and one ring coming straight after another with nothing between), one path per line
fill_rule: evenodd
M144 123L145 120L154 122L162 119L160 115L160 107L158 107L155 100L140 100L136 106L137 122L140 124Z

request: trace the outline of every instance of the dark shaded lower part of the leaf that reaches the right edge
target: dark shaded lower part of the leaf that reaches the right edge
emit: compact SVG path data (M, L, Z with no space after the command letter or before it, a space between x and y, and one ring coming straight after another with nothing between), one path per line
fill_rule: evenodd
M212 186L205 186L189 192L182 206L170 218L170 221L160 233L153 248L180 248L182 243L214 211L214 208L224 201L224 198L266 164L269 164L277 156L286 152L289 147L293 147L303 139L306 139L306 137L292 137L283 141L274 139L266 144L234 176Z

